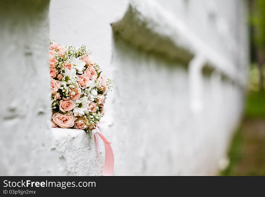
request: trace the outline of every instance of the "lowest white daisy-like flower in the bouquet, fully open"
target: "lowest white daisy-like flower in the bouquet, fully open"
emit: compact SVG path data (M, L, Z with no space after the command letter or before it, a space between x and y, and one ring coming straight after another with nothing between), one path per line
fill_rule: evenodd
M73 104L73 115L74 116L83 116L87 113L89 113L89 103L91 101L88 100L87 97L83 97L81 99L72 100Z

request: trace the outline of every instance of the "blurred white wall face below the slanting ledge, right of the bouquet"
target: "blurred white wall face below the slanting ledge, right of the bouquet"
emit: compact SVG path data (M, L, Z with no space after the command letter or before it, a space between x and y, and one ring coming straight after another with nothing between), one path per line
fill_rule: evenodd
M218 74L204 77L204 106L193 112L186 68L120 40L113 65L117 98L109 135L115 174L217 174L239 120L243 92Z

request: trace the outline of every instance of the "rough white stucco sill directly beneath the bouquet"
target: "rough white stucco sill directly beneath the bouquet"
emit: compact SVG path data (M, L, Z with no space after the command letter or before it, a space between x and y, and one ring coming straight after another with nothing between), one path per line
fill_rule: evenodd
M100 175L94 135L80 129L52 128L50 175Z

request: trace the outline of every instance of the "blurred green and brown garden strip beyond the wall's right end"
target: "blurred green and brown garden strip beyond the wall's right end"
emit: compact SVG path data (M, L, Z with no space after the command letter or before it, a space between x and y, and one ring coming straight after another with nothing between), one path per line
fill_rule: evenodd
M259 61L260 56L258 58L260 52L265 57L265 0L249 2L251 59L256 63L250 67L244 118L232 138L228 152L229 165L220 172L223 176L265 175L265 90L260 83L261 74L265 76L265 70L262 66L264 61L262 63Z

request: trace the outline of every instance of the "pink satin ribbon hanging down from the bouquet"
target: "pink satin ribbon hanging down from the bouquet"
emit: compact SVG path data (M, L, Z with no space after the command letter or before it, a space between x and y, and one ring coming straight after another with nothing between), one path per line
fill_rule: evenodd
M109 142L101 133L99 133L98 129L95 129L95 141L96 144L98 145L98 136L97 134L101 137L101 139L104 142L105 146L105 162L104 162L104 168L102 171L103 176L112 176L113 175L113 168L114 168L114 156L113 152L111 149L111 142Z

